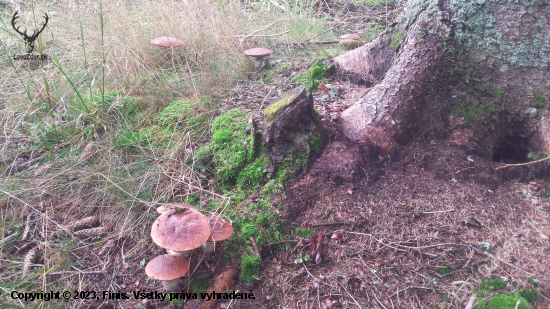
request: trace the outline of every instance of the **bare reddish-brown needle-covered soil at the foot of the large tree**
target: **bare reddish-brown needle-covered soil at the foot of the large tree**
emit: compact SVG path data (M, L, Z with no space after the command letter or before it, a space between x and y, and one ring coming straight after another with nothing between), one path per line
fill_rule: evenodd
M550 206L540 195L548 177L510 180L447 140L381 156L332 133L283 204L294 228L323 233L323 261L295 262L310 250L307 238L264 258L262 286L277 296L267 307L463 305L471 288L453 281L504 278L508 291L530 288L528 277L550 284ZM537 304L548 304L541 292Z

